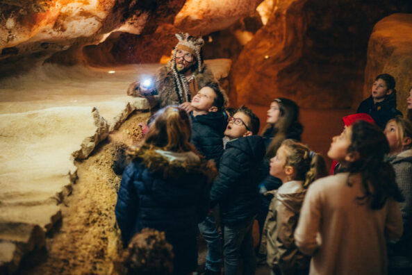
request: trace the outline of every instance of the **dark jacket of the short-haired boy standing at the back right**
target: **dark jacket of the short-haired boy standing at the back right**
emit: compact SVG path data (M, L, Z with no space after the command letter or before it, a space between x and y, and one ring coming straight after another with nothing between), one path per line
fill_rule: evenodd
M374 103L372 96L361 102L356 113L370 115L377 126L384 129L389 119L393 119L402 113L396 109L396 92L386 96L384 101Z

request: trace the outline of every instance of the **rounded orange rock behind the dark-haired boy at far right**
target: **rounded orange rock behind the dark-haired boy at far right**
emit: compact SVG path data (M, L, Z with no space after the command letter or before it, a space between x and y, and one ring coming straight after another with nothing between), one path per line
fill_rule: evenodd
M381 19L368 44L363 99L370 96L374 78L388 73L395 77L397 109L406 113L406 98L412 86L412 14L397 13Z

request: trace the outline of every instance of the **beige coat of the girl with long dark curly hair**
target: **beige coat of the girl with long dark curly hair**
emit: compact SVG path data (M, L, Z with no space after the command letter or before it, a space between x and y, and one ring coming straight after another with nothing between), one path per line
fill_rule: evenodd
M348 173L312 183L302 206L295 243L312 255L314 274L386 274L386 241L402 235L399 204L388 199L380 210L359 204L361 176Z

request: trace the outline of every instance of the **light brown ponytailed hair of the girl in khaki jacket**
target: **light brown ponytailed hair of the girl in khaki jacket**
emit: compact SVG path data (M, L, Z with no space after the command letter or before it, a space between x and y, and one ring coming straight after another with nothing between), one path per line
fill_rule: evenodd
M304 188L308 188L318 178L327 176L324 158L319 153L293 140L283 140L281 146L285 147L286 151L285 165L290 165L295 169L294 180L304 181Z

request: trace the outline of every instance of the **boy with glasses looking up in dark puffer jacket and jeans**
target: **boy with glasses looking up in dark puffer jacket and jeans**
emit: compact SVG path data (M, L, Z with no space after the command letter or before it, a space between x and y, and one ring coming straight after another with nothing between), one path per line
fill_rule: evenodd
M253 275L254 258L252 226L258 211L258 169L265 144L256 135L259 119L246 107L240 107L229 118L224 135L229 138L220 159L219 174L211 189L211 208L220 205L224 234L224 274ZM240 256L242 259L240 259Z

